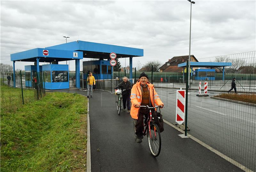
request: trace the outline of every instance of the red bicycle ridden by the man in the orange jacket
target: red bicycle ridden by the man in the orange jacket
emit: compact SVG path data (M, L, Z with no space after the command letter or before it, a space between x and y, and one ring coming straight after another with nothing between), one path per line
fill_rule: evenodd
M153 156L158 156L161 151L161 135L160 130L157 126L157 124L154 122L154 117L152 117L152 111L155 112L155 108L157 109L160 106L156 107L149 107L149 106L140 106L140 108L149 108L149 116L147 119L146 124L143 124L143 136L148 136L148 146L150 149L150 152ZM164 107L163 107L164 108ZM145 117L144 117L145 118ZM133 127L134 127L134 134L136 133L136 125L137 120L133 120ZM136 137L136 134L135 134Z

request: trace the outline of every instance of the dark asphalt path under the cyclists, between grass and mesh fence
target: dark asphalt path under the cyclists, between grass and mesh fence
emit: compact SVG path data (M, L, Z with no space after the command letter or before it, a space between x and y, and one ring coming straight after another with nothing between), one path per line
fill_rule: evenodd
M87 91L63 90L87 95ZM133 120L126 111L117 114L116 95L94 91L89 98L91 170L98 171L243 171L190 138L180 138L164 123L158 157L149 151L147 138L135 142Z

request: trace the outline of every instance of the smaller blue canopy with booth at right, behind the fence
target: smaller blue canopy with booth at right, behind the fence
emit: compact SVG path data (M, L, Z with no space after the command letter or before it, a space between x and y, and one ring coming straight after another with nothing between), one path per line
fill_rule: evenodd
M222 80L224 80L224 72L226 66L231 66L232 63L226 62L190 62L191 71L193 71L193 67L200 68L215 68L215 67L223 67L222 70ZM178 67L183 67L183 78L184 78L184 69L187 67L187 63L178 64ZM205 80L208 78L209 80L215 80L215 69L196 69L196 80ZM191 72L191 77L193 76L193 72Z

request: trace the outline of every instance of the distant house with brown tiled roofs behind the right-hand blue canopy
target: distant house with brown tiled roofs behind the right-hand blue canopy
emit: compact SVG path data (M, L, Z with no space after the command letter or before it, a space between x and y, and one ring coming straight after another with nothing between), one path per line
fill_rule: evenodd
M168 62L165 62L159 69L160 72L182 72L183 68L179 68L178 64L184 63L188 60L189 56L175 56L172 59L169 59ZM190 55L191 62L198 62L194 55Z

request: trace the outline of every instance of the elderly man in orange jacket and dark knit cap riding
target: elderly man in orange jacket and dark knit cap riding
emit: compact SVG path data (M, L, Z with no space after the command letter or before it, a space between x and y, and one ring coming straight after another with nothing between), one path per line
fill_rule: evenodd
M131 116L134 119L137 119L135 128L136 128L136 142L142 142L142 134L143 134L143 115L145 115L146 119L149 114L149 109L140 108L140 106L149 106L155 107L156 105L164 106L164 103L160 100L157 95L154 85L148 82L148 75L142 72L140 74L140 79L136 84L132 87L131 92Z

